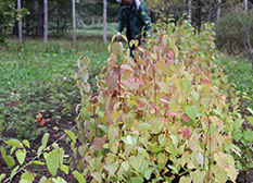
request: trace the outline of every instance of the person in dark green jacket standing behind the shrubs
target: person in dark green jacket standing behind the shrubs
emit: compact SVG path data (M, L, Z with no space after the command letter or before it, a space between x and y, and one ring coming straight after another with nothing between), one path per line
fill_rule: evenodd
M135 46L130 47L129 42L131 39L136 39L139 45L141 44L141 33L151 29L151 19L142 0L117 0L117 2L121 2L121 10L116 36L121 39L122 32L126 26L128 47L130 48L130 56L134 57Z

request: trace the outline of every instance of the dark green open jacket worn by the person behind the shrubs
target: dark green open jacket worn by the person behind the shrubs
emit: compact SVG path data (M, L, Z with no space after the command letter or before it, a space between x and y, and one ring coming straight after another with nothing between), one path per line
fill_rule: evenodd
M127 25L126 5L123 3L121 4L118 21L117 30L122 33L124 27ZM130 28L131 38L139 40L141 38L141 32L149 30L151 28L151 20L142 0L132 0L130 27L127 28Z

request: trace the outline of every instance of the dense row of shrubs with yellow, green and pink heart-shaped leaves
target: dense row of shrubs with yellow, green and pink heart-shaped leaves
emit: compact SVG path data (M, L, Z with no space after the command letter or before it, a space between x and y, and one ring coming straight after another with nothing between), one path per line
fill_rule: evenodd
M157 24L128 57L109 49L91 93L88 58L79 60L83 94L76 123L75 167L91 182L232 182L237 179L228 110L229 84L215 63L211 24L200 34L187 22ZM131 44L137 44L132 41ZM237 122L237 121L236 121Z

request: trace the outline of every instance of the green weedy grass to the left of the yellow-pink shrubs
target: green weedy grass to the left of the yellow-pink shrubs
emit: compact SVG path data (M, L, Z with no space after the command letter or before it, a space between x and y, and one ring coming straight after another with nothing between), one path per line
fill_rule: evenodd
M73 120L80 101L73 75L78 70L77 52L91 60L92 75L105 64L107 45L101 37L78 37L73 47L68 38L26 39L21 46L10 38L9 50L0 51L0 138L15 130L18 138L35 139L46 129L35 120L36 114L50 114Z

